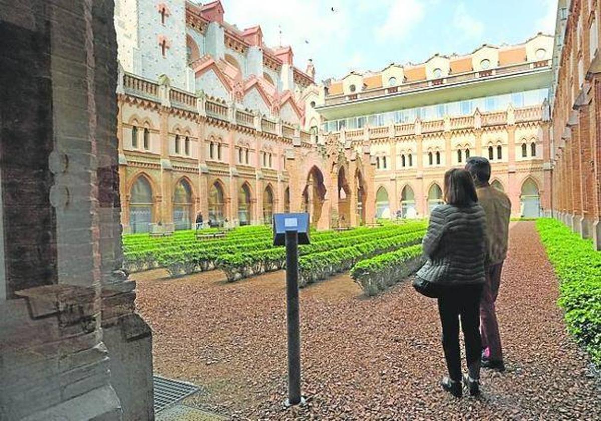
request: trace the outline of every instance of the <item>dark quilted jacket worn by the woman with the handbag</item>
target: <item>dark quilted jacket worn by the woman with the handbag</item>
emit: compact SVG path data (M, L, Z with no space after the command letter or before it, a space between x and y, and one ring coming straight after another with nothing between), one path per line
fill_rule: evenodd
M486 215L478 203L436 206L422 241L428 260L417 275L445 285L484 283L485 229Z

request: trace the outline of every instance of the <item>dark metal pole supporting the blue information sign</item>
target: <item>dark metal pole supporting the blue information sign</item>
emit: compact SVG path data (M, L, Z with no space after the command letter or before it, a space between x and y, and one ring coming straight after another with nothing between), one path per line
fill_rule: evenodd
M288 405L301 403L298 233L286 231L286 307L288 323Z

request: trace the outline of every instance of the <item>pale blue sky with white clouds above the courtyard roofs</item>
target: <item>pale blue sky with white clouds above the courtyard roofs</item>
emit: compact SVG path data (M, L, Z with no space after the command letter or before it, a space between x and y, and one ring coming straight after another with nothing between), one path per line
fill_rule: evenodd
M222 0L225 20L260 25L269 46L291 45L294 64L313 58L316 79L350 70L465 54L483 43L553 34L557 0ZM333 10L332 10L333 8ZM281 35L279 34L281 30Z

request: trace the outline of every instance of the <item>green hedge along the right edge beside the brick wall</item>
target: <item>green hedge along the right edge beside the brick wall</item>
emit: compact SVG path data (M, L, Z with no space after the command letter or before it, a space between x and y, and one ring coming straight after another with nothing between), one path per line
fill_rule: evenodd
M601 364L601 252L556 220L539 219L536 227L560 280L568 330Z

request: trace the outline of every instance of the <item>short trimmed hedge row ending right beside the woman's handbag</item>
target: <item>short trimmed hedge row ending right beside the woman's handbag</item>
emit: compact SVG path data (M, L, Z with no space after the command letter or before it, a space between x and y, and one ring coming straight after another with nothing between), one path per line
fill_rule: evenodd
M423 262L422 246L415 244L357 262L350 277L367 295L376 295L413 274Z

